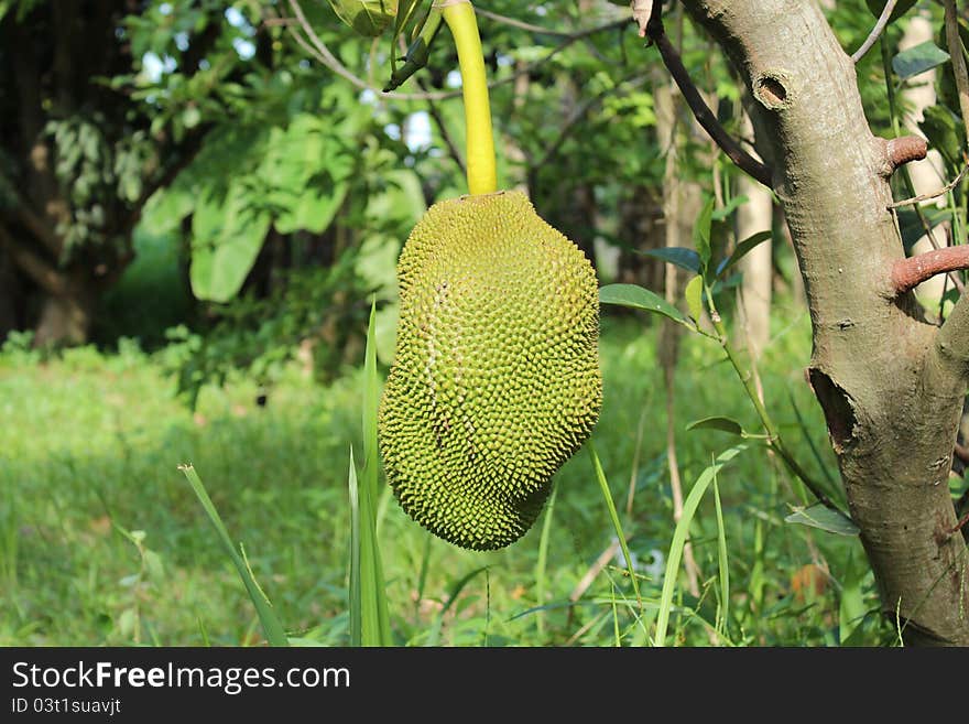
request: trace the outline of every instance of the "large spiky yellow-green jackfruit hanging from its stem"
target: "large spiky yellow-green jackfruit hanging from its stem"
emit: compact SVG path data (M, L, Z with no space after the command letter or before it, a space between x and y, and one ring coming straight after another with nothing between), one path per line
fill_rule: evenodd
M436 536L503 548L599 417L599 298L583 252L521 193L432 206L398 262L378 424L388 479Z

